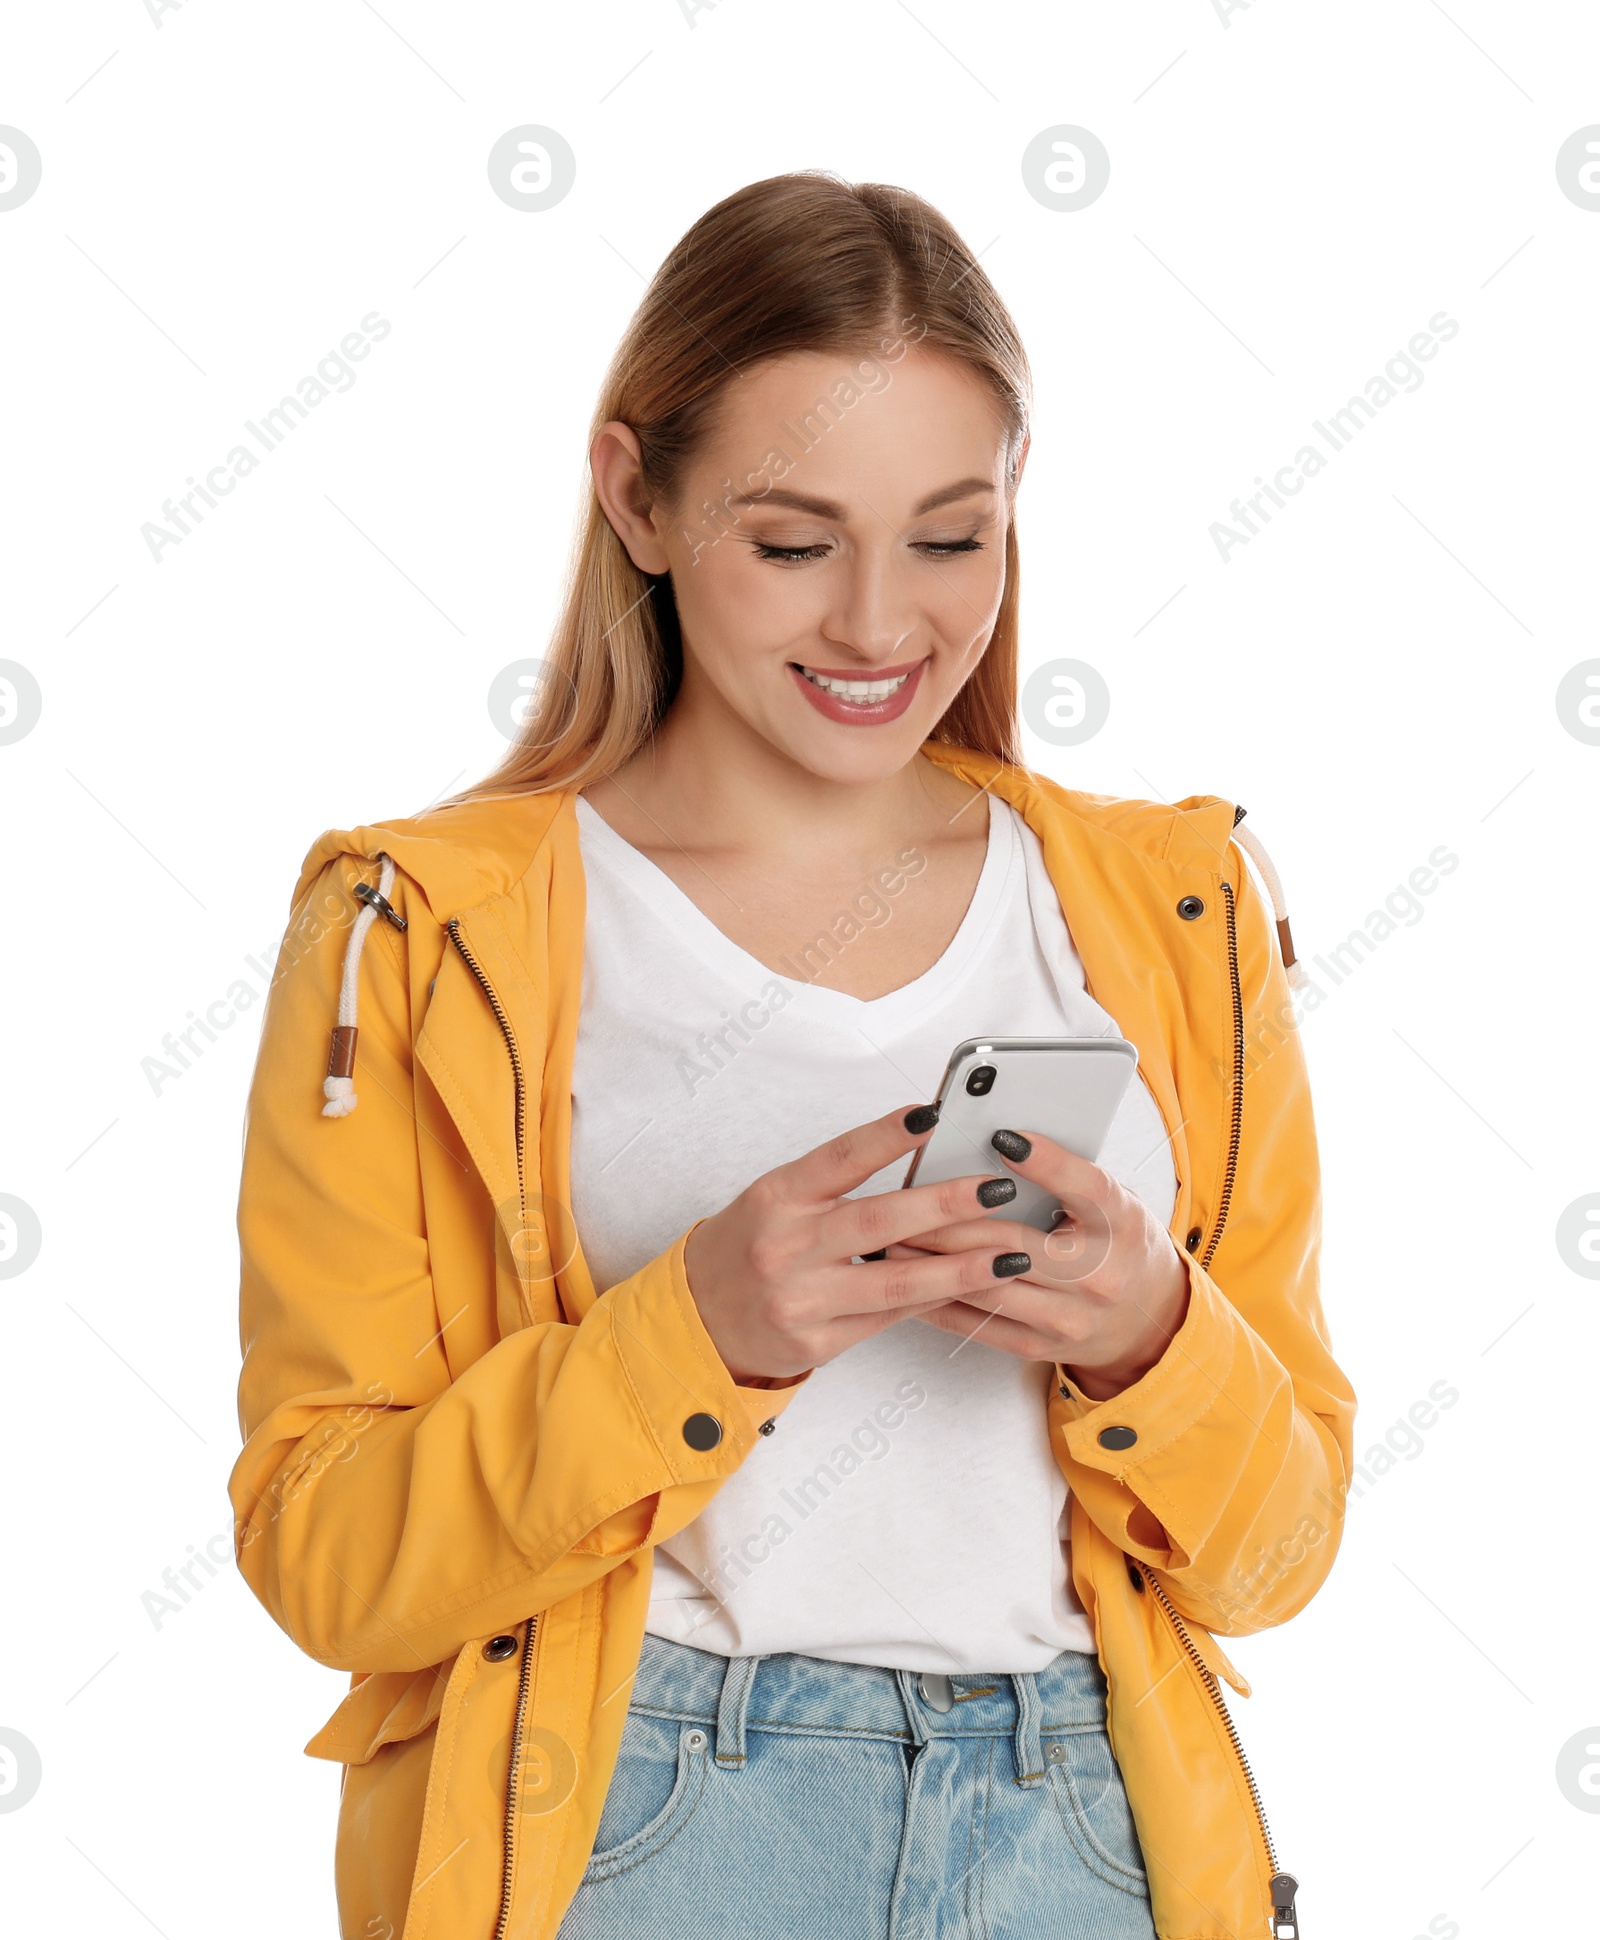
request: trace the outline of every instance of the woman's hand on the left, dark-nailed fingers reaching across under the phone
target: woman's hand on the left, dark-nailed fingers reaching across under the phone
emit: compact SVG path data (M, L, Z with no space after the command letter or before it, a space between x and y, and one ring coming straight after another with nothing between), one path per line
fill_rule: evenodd
M979 1218L985 1207L1016 1197L1014 1180L974 1174L844 1197L921 1145L935 1123L933 1108L917 1106L857 1125L764 1172L688 1234L688 1290L741 1387L805 1374L896 1321L981 1298L983 1288L1030 1269L1028 1245L1043 1234L985 1228ZM948 1251L896 1244L931 1228L966 1232L968 1240ZM884 1247L898 1257L857 1259Z

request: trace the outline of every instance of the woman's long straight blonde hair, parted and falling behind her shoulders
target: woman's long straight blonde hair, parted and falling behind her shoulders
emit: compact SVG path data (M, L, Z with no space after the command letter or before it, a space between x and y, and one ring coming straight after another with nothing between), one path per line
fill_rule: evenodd
M1014 479L1028 431L1028 359L950 223L904 188L774 175L708 210L656 272L611 359L590 436L611 419L630 425L650 502L671 506L723 386L741 371L789 351L871 355L906 340L946 351L989 384ZM935 741L1018 759L1016 609L1008 520L999 617ZM535 706L500 766L450 799L584 788L615 772L656 731L681 673L671 578L632 563L590 485Z

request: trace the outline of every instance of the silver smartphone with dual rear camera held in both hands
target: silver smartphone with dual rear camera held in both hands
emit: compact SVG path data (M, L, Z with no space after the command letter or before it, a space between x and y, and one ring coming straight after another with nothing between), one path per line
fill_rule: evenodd
M1008 1172L989 1145L1001 1129L1040 1131L1078 1158L1098 1158L1136 1065L1127 1038L968 1038L950 1051L939 1123L912 1154L906 1185ZM1016 1199L989 1218L1051 1232L1061 1201L1018 1178Z

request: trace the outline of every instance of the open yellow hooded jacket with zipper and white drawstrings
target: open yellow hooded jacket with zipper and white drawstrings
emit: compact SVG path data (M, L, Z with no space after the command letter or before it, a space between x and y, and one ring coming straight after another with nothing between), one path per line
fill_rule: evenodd
M1156 1928L1264 1940L1276 1901L1290 1934L1222 1698L1247 1686L1212 1635L1315 1593L1350 1461L1288 929L1228 801L1119 801L925 751L1043 842L1090 993L1171 1135L1183 1327L1111 1401L1061 1370L1049 1401ZM324 1116L357 889L380 869L388 908L345 991L359 1110ZM582 956L574 797L502 797L322 836L268 1001L231 1496L254 1593L351 1672L306 1746L345 1765L351 1940L551 1940L617 1758L650 1552L797 1393L729 1379L683 1238L597 1298L566 1211ZM692 1447L706 1414L720 1439Z

